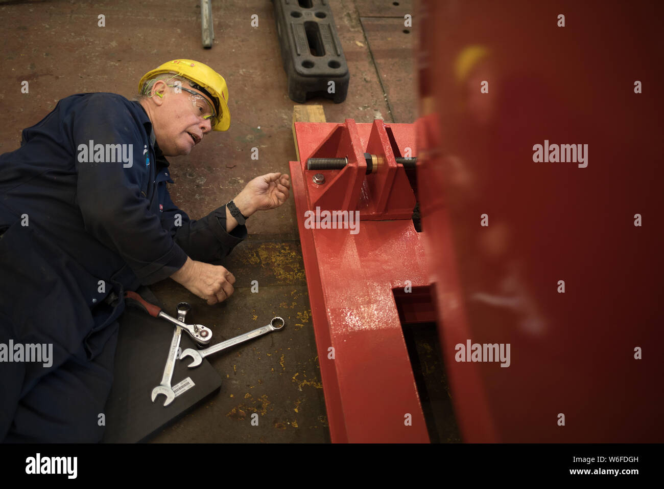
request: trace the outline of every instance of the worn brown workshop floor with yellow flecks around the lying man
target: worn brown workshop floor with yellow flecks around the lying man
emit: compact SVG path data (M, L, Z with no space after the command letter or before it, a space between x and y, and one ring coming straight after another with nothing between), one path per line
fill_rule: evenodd
M323 104L328 122L413 122L416 31L403 23L405 13L416 17L410 1L339 0L331 7L351 73L349 92L342 104L308 103ZM106 27L98 27L100 14ZM287 95L272 3L213 0L212 14L214 46L203 49L197 1L0 3L0 152L18 148L21 130L39 122L60 98L77 92L131 98L145 72L186 57L225 77L232 122L230 130L207 136L189 156L170 158L173 201L191 218L201 218L252 178L287 172L288 161L295 160L294 102ZM253 14L258 27L250 24ZM22 81L29 81L29 94L21 93ZM258 160L250 158L254 147ZM193 319L224 339L274 315L286 319L286 329L211 357L226 379L220 393L157 434L155 442L329 442L292 198L252 216L248 230L249 238L224 263L237 279L225 303L210 307L171 280L151 289L171 313L179 301L189 301ZM258 293L250 290L253 280ZM250 426L254 412L260 414L257 427Z

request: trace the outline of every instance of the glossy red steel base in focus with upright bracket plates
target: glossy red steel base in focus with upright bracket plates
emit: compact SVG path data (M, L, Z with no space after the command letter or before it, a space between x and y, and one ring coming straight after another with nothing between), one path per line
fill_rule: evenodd
M396 146L414 153L412 125L390 126ZM295 122L295 134L301 162L290 162L293 196L332 441L428 442L392 293L408 283L428 285L404 169L397 168L382 121ZM385 157L378 174L365 175L367 146ZM313 156L347 156L349 165L305 170ZM322 186L312 182L317 172L325 174ZM359 210L357 234L310 228L305 212L315 207Z

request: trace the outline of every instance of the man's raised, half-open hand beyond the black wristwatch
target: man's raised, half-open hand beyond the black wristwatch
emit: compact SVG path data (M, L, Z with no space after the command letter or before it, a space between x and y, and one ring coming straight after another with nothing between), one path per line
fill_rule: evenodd
M257 210L274 209L286 202L290 189L290 176L281 173L268 173L257 176L233 200L245 217ZM245 213L246 211L246 213Z

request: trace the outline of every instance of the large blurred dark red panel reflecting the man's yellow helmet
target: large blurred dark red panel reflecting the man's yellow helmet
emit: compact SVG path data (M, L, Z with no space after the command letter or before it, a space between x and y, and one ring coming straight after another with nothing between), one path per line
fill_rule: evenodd
M464 441L664 441L663 10L420 3L422 236ZM545 140L587 166L535 162ZM467 340L509 367L457 362Z

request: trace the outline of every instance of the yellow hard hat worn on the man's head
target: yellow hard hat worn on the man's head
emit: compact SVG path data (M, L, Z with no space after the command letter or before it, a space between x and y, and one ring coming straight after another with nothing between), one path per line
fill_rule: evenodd
M143 75L141 81L138 82L138 92L143 90L143 84L154 77L161 75L161 73L173 73L185 77L187 80L194 82L201 92L205 93L214 102L214 108L218 114L217 123L212 130L225 131L230 126L230 112L228 111L228 86L224 77L216 73L212 68L208 67L198 61L192 59L174 59L168 63L164 63Z

